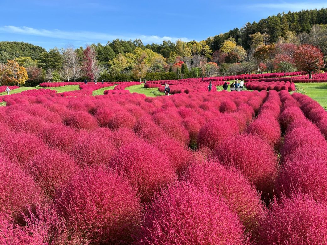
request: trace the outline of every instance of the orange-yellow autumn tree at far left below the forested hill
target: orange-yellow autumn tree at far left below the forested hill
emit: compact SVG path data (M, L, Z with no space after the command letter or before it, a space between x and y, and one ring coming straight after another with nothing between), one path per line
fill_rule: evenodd
M27 81L27 71L25 67L20 66L15 60L8 60L4 70L4 79L2 85L24 86Z

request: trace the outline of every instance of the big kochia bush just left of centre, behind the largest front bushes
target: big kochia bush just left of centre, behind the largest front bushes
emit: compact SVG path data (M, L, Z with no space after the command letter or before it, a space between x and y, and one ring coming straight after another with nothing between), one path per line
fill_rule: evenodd
M156 189L166 186L176 178L168 158L142 140L122 145L113 157L112 168L130 180L143 201L149 200Z

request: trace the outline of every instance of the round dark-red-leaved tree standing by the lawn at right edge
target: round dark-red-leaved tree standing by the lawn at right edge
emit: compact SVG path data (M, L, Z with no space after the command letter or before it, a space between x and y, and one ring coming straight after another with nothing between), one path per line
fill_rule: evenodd
M309 79L312 78L312 73L318 73L323 66L323 55L320 49L311 44L303 44L297 47L293 57L296 67L307 72Z

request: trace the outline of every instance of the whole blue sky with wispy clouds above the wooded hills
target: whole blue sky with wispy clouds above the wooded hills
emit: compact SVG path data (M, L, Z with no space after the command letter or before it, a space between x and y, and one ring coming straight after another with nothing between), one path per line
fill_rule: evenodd
M279 12L326 8L302 0L1 0L0 41L24 41L46 49L140 38L201 41Z

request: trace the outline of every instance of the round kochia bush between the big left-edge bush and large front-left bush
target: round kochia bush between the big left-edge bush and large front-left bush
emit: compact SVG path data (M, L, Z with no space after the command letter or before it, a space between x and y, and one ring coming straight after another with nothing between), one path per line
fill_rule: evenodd
M77 171L78 166L69 155L52 149L36 155L29 166L34 180L49 197L53 197L55 190L67 184Z

